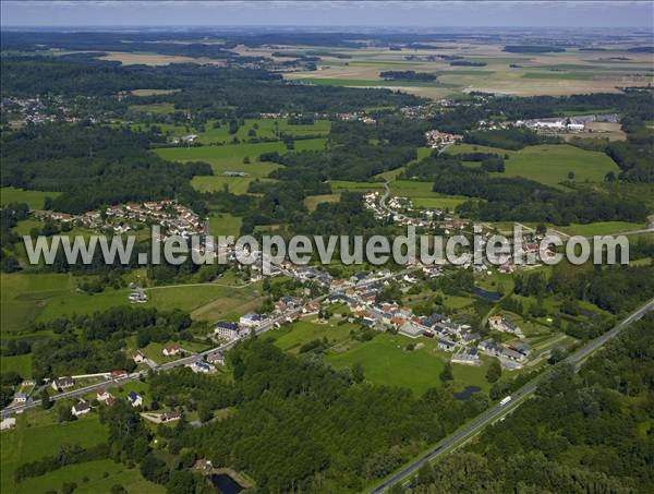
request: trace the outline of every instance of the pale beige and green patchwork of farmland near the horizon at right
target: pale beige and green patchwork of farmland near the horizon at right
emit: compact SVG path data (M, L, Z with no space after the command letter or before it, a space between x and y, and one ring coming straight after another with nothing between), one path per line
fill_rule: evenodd
M494 44L431 45L439 55L458 56L485 65L452 67L449 61L434 57L435 51L428 49L339 47L335 51L351 57L347 62L326 53L320 57L319 70L291 72L284 77L308 84L388 87L434 99L465 97L470 92L517 96L616 93L619 86L646 85L653 79L651 57L615 47L611 47L611 56L628 56L630 63L602 59L601 55L574 48L559 53L507 53L502 51L502 45ZM272 50L256 48L252 52L269 56ZM247 48L242 48L241 52L251 55ZM408 57L411 59L407 60ZM379 75L384 70L427 72L435 74L437 80L385 81Z

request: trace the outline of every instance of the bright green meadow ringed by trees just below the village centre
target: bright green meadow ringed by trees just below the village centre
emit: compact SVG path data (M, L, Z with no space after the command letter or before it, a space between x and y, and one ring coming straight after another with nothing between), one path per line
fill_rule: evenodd
M409 344L425 345L420 350L405 350ZM373 340L355 345L343 353L329 353L327 362L336 369L363 366L365 378L375 384L399 386L421 395L441 385L439 374L444 358L426 338L411 339L401 335L380 334Z

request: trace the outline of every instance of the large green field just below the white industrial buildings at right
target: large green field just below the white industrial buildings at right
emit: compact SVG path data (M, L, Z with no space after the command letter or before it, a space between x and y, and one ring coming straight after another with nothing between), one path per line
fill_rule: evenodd
M553 186L562 186L568 173L574 173L574 181L603 182L609 171L616 174L618 166L604 153L580 149L568 144L544 144L528 146L520 150L507 150L474 144L457 144L447 148L447 153L497 153L508 155L504 173L491 173L494 177L524 177Z

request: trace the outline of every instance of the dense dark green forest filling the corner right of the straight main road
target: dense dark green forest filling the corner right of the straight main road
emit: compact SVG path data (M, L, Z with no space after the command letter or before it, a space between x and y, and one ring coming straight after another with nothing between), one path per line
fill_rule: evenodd
M649 492L654 316L583 365L561 364L505 421L423 467L416 493Z

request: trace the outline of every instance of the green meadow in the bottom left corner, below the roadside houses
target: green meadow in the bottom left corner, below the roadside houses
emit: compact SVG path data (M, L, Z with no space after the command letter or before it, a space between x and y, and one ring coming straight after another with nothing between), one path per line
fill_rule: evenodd
M17 492L13 471L22 463L37 460L44 456L56 455L64 444L89 447L107 441L107 431L100 424L96 413L61 424L53 423L51 417L53 417L52 411L36 410L19 415L16 427L2 432L0 491ZM38 479L34 479L34 481ZM22 486L23 484L21 484ZM46 487L49 486L46 485ZM43 492L44 490L21 492Z

